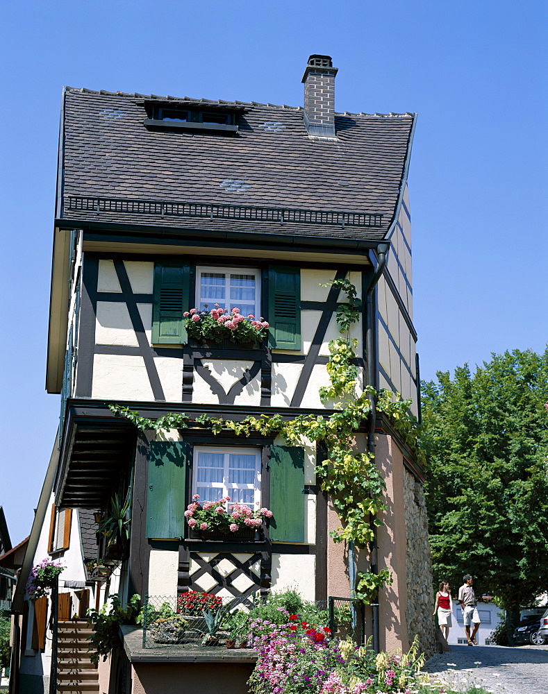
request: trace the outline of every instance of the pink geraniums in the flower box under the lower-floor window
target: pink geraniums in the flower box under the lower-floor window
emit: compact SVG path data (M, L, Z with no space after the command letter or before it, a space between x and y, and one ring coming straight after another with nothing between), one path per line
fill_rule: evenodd
M229 505L229 496L204 504L199 502L199 498L194 494L185 518L188 526L203 539L254 539L265 518L272 518L272 511L267 508L251 511L243 504Z

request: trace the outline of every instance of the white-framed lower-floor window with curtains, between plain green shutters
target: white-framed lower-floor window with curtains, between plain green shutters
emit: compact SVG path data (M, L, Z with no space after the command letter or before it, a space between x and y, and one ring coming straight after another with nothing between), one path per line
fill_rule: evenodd
M231 503L256 509L260 502L260 451L255 448L194 448L192 493L200 501L229 496Z

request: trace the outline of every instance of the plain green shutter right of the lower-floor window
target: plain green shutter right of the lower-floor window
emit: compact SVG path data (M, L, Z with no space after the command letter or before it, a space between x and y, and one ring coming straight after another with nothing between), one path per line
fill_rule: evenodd
M304 542L304 449L270 447L270 538Z

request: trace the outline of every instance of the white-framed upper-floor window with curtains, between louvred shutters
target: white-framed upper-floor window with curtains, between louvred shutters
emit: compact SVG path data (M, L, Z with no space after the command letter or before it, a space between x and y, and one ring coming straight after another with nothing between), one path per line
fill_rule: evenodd
M242 268L197 268L196 303L200 311L215 304L230 311L238 307L243 316L260 316L260 273Z

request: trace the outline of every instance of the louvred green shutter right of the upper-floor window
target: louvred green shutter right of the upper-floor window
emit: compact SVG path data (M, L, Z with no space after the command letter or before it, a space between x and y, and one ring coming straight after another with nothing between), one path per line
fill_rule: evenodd
M270 346L301 348L301 271L272 265L268 269Z

